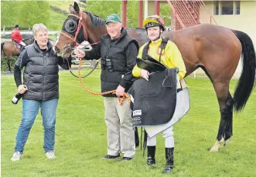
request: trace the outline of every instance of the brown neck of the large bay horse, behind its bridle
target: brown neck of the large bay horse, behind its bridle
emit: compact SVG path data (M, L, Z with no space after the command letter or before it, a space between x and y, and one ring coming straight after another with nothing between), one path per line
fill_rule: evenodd
M107 33L107 28L103 26L94 26L90 22L90 18L86 13L83 13L83 25L87 31L87 41L90 43L97 43L101 41L101 36Z

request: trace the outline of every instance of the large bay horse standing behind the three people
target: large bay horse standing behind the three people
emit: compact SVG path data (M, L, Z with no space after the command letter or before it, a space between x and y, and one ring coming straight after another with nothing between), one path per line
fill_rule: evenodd
M78 28L80 24L81 28ZM127 30L140 46L148 42L144 29ZM70 15L63 23L55 50L59 55L69 56L71 44L86 40L94 47L94 44L101 41L101 35L106 32L103 19L90 12L80 12L75 2L74 5L70 5ZM163 32L162 37L169 37L169 40L179 48L186 65L186 76L196 68L202 68L213 84L220 107L220 125L217 141L210 152L217 152L221 142L224 141L224 145L227 145L233 135L233 108L241 112L254 88L256 56L253 42L244 32L210 24ZM230 79L241 56L243 68L232 98L229 90Z

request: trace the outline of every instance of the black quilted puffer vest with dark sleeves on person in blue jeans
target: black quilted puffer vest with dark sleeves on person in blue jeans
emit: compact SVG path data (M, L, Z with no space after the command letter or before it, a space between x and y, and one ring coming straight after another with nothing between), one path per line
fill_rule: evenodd
M19 55L15 66L15 82L21 85L20 69L25 66L23 84L28 91L23 99L45 101L59 98L59 66L67 69L67 63L56 57L52 45L43 52L37 43L26 46L26 50ZM17 69L19 67L19 69ZM17 74L18 73L18 74Z

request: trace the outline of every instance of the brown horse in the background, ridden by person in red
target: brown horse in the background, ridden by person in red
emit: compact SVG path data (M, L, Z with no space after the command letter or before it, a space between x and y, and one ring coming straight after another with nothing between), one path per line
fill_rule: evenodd
M26 45L30 45L34 42L34 37L23 39L22 42L24 42ZM7 65L9 72L12 71L11 69L11 60L12 55L19 56L22 50L22 46L17 44L16 42L2 42L1 43L1 59L4 57L4 55L7 57Z

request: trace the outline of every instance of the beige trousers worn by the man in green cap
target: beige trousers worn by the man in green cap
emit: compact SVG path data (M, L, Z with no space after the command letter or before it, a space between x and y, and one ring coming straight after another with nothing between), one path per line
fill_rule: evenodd
M119 105L118 98L104 97L105 123L107 125L108 155L132 158L135 155L135 131L132 129L130 104L125 99Z

